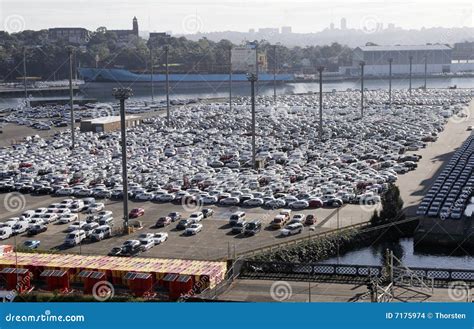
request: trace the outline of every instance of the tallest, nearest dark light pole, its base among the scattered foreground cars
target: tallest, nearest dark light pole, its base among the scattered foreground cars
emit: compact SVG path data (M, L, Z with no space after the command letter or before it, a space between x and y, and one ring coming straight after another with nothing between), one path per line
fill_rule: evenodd
M120 130L122 142L123 228L128 234L128 174L127 138L125 131L125 100L133 95L131 88L114 88L113 95L120 101Z

